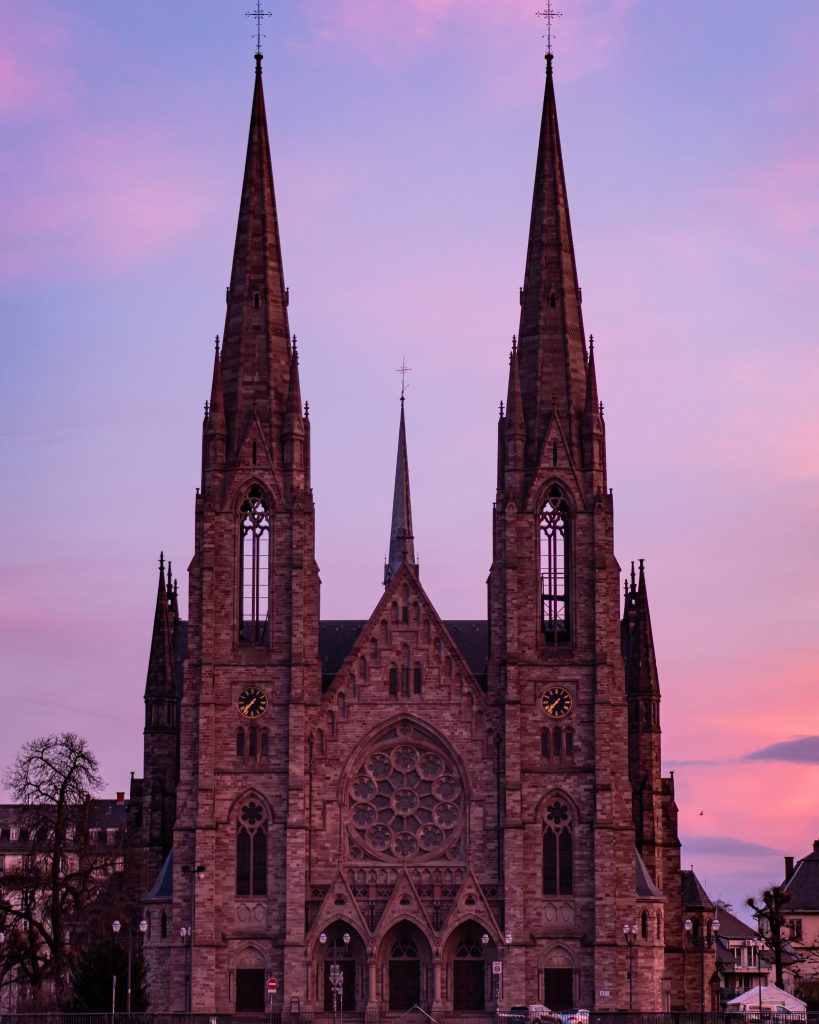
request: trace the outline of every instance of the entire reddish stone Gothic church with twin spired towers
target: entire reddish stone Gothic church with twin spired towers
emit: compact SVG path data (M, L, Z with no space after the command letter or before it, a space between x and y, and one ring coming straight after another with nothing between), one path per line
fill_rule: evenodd
M421 584L403 402L384 592L367 622L320 620L261 62L189 618L161 565L132 791L152 1008L681 1007L645 574L621 599L552 57L474 623Z

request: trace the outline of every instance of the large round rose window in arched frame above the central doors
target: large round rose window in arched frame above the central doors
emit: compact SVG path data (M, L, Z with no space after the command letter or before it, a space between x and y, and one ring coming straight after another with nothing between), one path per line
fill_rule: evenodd
M357 860L461 855L465 792L448 753L404 725L374 744L347 786L350 854Z

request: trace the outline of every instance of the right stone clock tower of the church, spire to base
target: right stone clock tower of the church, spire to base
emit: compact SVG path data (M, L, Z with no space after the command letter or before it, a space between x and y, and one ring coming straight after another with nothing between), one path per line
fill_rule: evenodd
M526 937L514 944L507 983L549 1006L605 1010L631 999L659 1010L662 897L636 868L613 503L551 54L520 305L489 574L506 925ZM641 901L651 924L636 942ZM639 993L629 991L630 970Z

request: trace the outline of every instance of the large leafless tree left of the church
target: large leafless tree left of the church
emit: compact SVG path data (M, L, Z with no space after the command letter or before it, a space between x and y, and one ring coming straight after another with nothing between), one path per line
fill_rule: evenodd
M5 782L21 805L28 852L6 872L0 894L0 918L15 936L3 966L60 1005L70 931L82 924L111 869L112 851L94 849L88 835L91 796L103 781L85 739L63 732L25 743Z

